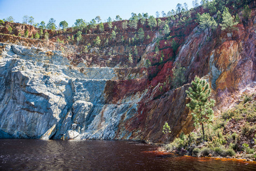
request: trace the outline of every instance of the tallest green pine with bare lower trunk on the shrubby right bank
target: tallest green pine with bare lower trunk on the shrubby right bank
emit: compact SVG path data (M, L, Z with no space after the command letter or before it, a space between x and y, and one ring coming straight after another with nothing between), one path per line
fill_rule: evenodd
M204 123L210 123L213 120L213 109L215 100L209 99L211 89L209 84L204 79L198 76L194 78L191 87L186 91L190 98L190 103L186 104L187 107L193 112L194 125L202 126L202 137L205 137Z

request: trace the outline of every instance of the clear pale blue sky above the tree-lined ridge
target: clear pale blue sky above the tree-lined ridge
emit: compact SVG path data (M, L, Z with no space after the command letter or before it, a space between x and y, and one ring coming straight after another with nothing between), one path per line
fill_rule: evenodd
M50 18L56 20L56 25L60 21L67 21L68 26L74 25L76 19L85 19L91 21L97 15L100 15L102 22L108 17L115 19L120 15L123 19L129 19L131 13L156 14L159 11L168 11L176 9L177 3L186 2L189 9L192 7L192 0L0 0L0 19L13 16L14 22L22 23L24 15L35 18L35 22L44 21L48 23Z

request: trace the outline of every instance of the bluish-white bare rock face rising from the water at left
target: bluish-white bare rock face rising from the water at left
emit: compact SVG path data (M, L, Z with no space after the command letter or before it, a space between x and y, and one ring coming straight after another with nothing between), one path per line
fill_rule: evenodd
M136 103L106 104L116 68L80 70L59 51L0 46L0 138L115 139Z

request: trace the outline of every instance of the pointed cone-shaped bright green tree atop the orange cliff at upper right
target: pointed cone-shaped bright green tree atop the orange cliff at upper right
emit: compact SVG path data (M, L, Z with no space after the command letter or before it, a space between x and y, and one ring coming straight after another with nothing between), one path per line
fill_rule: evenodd
M232 17L229 13L229 9L225 7L222 14L222 23L220 24L221 30L233 31L235 29L234 26L238 24L238 22L234 21L235 17Z

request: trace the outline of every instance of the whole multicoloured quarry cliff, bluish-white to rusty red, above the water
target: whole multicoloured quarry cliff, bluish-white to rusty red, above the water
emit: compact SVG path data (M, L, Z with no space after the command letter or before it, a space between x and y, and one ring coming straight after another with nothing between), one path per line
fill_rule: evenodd
M218 27L212 39L193 21L188 28L174 21L170 35L178 42L177 51L164 34L147 27L151 39L137 46L117 39L83 52L97 35L109 38L111 30L90 30L94 34L83 34L84 42L69 44L56 42L66 40L65 32L49 31L49 40L22 38L15 35L25 30L33 34L38 28L15 23L20 30L10 35L5 26L12 24L5 23L0 28L0 137L157 142L164 141L165 121L172 129L171 140L189 133L194 129L185 107L189 84L172 88L172 68L176 62L186 67L186 83L196 75L208 80L217 101L215 115L235 104L242 93L256 91L253 7L248 23L239 23L231 34ZM204 9L196 12L200 11ZM120 28L119 37L128 40L136 34L121 30L121 22L114 25ZM135 48L131 62L129 52Z

